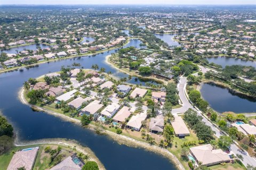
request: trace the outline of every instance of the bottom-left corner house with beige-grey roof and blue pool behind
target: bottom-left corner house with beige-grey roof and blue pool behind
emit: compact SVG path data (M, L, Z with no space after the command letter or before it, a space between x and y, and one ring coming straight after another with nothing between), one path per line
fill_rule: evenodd
M26 170L32 170L38 149L39 147L27 148L15 152L7 170L14 170L21 167L24 167Z

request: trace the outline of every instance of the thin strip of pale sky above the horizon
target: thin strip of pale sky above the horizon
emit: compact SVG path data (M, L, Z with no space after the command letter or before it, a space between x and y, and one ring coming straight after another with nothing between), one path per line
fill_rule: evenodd
M0 4L256 4L256 0L0 0Z

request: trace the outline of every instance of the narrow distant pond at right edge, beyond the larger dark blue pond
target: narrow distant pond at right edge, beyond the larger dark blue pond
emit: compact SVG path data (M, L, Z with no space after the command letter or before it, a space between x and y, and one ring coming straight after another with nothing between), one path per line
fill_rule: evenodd
M256 67L256 62L250 60L242 60L241 58L234 57L207 57L209 63L215 63L225 68L227 65L244 65Z

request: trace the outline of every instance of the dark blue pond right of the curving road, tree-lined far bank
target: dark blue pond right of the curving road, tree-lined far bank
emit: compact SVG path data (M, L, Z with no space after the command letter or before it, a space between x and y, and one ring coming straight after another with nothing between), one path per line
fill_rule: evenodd
M256 99L215 85L205 83L201 88L202 97L217 112L256 113Z

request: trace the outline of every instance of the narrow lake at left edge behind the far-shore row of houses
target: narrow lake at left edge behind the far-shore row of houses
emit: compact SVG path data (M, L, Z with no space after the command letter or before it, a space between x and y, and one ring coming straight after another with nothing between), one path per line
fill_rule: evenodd
M23 50L36 50L38 47L41 47L41 49L44 48L50 48L51 46L49 45L45 45L45 44L32 44L32 45L27 45L27 46L20 46L20 47L14 47L14 48L9 48L6 50L1 50L1 53L9 53L9 54L17 54L17 50L18 52L21 52Z

